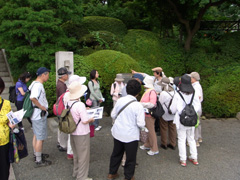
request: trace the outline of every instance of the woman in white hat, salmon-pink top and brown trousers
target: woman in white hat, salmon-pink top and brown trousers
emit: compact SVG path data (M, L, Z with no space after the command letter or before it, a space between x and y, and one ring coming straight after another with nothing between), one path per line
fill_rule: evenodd
M146 91L142 95L140 102L143 105L143 107L147 108L148 110L157 106L157 93L154 90L153 81L154 80L150 76L146 76L143 80ZM146 122L146 127L149 130L149 133L148 133L148 138L146 143L140 146L140 149L148 150L147 154L150 156L153 156L159 153L157 136L154 128L155 120L156 119L153 116L151 116L150 113L145 113L145 122Z

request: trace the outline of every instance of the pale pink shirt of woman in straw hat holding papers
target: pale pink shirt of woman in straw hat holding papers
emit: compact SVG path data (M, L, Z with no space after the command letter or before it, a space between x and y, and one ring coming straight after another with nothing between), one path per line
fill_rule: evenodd
M69 101L68 106L71 106L74 102L75 101ZM78 124L76 131L74 131L72 135L86 135L90 133L89 124L82 123L88 121L89 119L85 104L81 101L76 102L71 108L71 113L76 124L78 123L79 119L81 119L81 122Z

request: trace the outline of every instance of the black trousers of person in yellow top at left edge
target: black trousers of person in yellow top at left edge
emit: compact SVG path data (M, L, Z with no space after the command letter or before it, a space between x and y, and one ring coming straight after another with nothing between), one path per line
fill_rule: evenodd
M1 180L8 180L9 177L9 143L0 146L0 176Z

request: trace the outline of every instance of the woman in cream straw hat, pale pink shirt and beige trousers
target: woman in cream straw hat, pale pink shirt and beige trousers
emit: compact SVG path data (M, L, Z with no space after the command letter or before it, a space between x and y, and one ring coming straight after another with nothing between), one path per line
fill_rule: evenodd
M85 104L80 101L80 97L86 92L87 87L79 82L72 82L69 87L69 101L67 106L72 106L71 114L76 124L80 123L77 129L71 134L71 146L73 149L73 177L77 180L92 180L88 178L90 160L90 128L89 123L93 118L88 118Z

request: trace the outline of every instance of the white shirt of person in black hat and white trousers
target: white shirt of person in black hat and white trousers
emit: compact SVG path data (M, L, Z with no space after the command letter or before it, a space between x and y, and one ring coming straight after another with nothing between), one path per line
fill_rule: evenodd
M185 99L187 104L190 103L192 95L193 94L187 95L187 94L182 93L182 96ZM192 105L193 105L195 111L199 112L199 110L201 109L201 103L200 103L199 95L197 92L195 92ZM182 110L185 108L185 106L186 106L185 102L183 101L183 99L181 98L179 93L176 92L174 95L173 101L172 101L172 105L170 106L170 109L171 109L172 113L175 114L173 123L176 124L177 129L188 130L191 128L195 128L194 126L188 127L188 126L184 126L180 123L180 114L182 113Z

